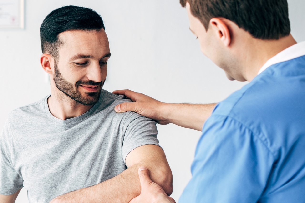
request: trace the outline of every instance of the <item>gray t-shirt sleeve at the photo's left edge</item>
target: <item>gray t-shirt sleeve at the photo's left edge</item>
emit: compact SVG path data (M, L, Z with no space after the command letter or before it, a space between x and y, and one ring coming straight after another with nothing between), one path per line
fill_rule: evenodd
M14 143L6 121L0 135L0 194L14 194L23 187L23 179L13 167Z

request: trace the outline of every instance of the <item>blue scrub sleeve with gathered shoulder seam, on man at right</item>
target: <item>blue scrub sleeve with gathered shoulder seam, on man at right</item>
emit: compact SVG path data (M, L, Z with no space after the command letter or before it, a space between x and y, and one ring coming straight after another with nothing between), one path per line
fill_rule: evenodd
M259 136L234 118L212 115L203 126L192 179L179 202L255 203L274 156Z

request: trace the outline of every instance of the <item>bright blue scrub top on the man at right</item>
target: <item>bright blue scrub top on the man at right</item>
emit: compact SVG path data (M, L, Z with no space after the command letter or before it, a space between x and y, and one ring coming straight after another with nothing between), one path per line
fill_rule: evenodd
M305 55L217 104L179 202L305 202Z

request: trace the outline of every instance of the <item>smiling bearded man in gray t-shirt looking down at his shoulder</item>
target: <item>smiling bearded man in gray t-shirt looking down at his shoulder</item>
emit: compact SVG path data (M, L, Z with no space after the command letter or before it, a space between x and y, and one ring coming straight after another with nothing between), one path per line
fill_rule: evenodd
M129 202L140 194L141 165L170 195L155 121L115 113L130 100L102 89L111 54L101 16L65 6L40 31L51 95L9 114L0 137L0 202L14 202L22 187L29 202Z

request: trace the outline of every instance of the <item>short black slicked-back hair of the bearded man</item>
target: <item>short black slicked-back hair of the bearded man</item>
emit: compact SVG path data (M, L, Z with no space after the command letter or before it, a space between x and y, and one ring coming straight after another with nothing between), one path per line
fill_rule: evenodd
M48 14L40 26L42 53L48 52L58 57L58 49L63 42L59 33L68 30L105 30L102 17L92 9L79 6L63 6Z

